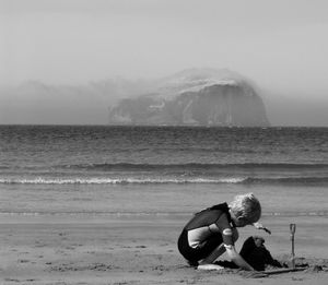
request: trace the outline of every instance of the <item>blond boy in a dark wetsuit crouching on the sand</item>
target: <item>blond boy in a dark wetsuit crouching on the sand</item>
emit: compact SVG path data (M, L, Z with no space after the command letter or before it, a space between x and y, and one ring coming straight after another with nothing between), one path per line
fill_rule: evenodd
M253 193L236 195L227 205L218 204L197 213L184 227L178 239L178 249L190 265L203 270L220 270L213 262L226 251L241 269L254 270L236 252L238 239L236 227L256 223L261 216L261 206ZM257 228L262 228L256 224Z

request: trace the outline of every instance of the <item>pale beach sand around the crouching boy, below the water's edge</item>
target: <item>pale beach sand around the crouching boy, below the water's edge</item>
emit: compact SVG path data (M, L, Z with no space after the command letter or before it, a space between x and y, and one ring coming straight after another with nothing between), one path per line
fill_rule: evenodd
M327 217L265 217L274 258L290 254L289 223L296 223L297 263L304 272L262 278L245 272L187 266L176 240L188 216L0 217L1 284L327 284ZM253 227L239 230L239 244ZM226 257L223 257L223 259Z

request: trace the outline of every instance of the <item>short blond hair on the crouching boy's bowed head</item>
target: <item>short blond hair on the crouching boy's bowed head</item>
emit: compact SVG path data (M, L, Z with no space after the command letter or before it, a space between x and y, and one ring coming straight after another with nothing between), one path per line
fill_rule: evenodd
M236 195L229 206L235 217L243 217L247 224L256 223L261 216L260 202L253 193Z

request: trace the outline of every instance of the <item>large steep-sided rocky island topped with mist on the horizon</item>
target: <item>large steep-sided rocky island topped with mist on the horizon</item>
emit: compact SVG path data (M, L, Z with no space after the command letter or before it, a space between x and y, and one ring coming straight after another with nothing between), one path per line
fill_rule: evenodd
M192 69L157 81L151 93L118 102L110 124L267 127L251 83L229 70Z

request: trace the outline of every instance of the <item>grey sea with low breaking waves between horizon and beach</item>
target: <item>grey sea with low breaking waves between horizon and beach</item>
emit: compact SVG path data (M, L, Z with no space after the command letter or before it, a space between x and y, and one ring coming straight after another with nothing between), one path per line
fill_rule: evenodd
M328 216L328 128L0 126L0 215Z

